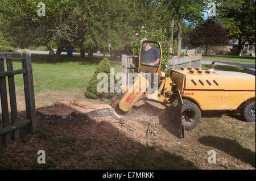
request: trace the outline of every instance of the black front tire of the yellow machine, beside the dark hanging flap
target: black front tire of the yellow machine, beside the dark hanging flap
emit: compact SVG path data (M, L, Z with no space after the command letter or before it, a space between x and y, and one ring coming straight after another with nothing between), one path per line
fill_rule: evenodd
M183 99L181 116L184 129L188 131L199 124L201 119L201 110L195 103L190 100Z

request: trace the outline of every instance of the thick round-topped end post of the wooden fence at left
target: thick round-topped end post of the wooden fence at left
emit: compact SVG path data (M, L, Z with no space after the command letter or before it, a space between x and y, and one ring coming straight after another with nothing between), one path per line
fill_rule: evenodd
M32 134L36 133L36 111L35 111L35 94L34 83L32 75L31 54L30 50L22 50L22 68L26 69L26 73L23 74L24 80L24 93L26 100L27 119L31 120L31 124L28 124L28 131Z

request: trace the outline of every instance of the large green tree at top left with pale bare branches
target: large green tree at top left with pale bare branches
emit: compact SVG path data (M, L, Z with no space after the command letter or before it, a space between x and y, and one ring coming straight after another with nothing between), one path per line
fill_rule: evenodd
M57 45L54 57L59 60L63 48L72 45L75 38L76 20L73 12L76 0L44 1L46 16L38 16L38 2L35 0L2 0L0 1L0 27L9 32L20 48L28 45L46 45L52 49Z

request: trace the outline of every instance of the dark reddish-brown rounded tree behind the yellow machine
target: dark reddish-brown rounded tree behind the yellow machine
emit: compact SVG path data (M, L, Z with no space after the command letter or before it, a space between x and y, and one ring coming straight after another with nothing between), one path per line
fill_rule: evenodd
M193 47L205 46L205 55L207 55L208 49L213 45L228 45L228 37L219 23L207 19L189 33L189 43Z

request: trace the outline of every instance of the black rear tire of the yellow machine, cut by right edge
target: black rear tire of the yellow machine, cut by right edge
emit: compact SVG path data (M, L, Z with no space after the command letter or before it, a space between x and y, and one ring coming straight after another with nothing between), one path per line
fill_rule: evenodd
M249 101L243 104L242 116L246 122L255 122L255 102Z

